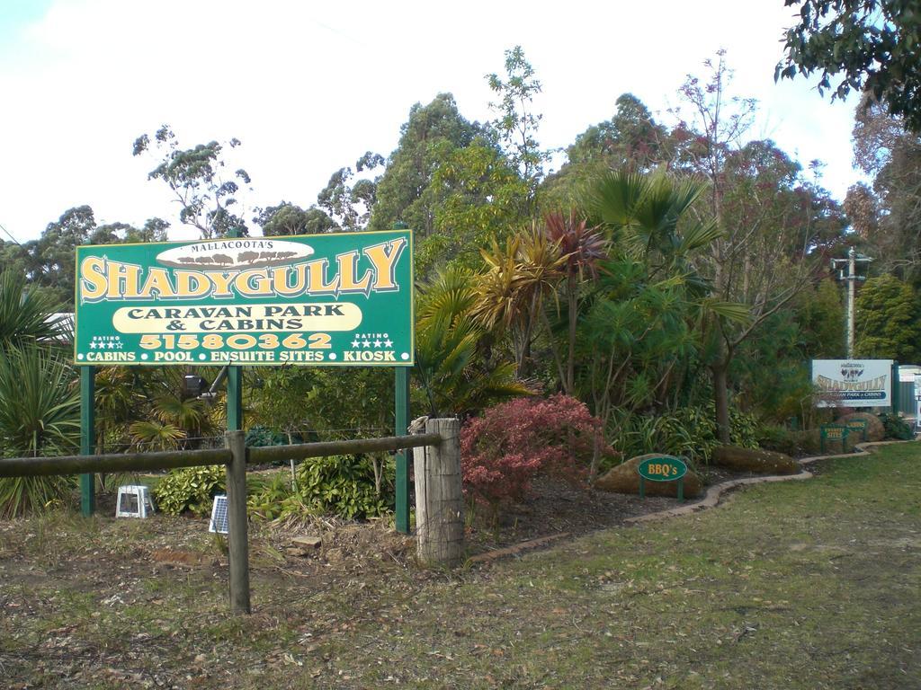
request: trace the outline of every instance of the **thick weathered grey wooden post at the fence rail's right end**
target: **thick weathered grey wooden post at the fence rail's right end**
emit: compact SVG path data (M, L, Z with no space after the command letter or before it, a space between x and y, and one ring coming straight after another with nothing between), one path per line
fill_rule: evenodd
M461 422L427 420L426 433L443 440L414 452L417 556L424 565L453 566L463 558Z

